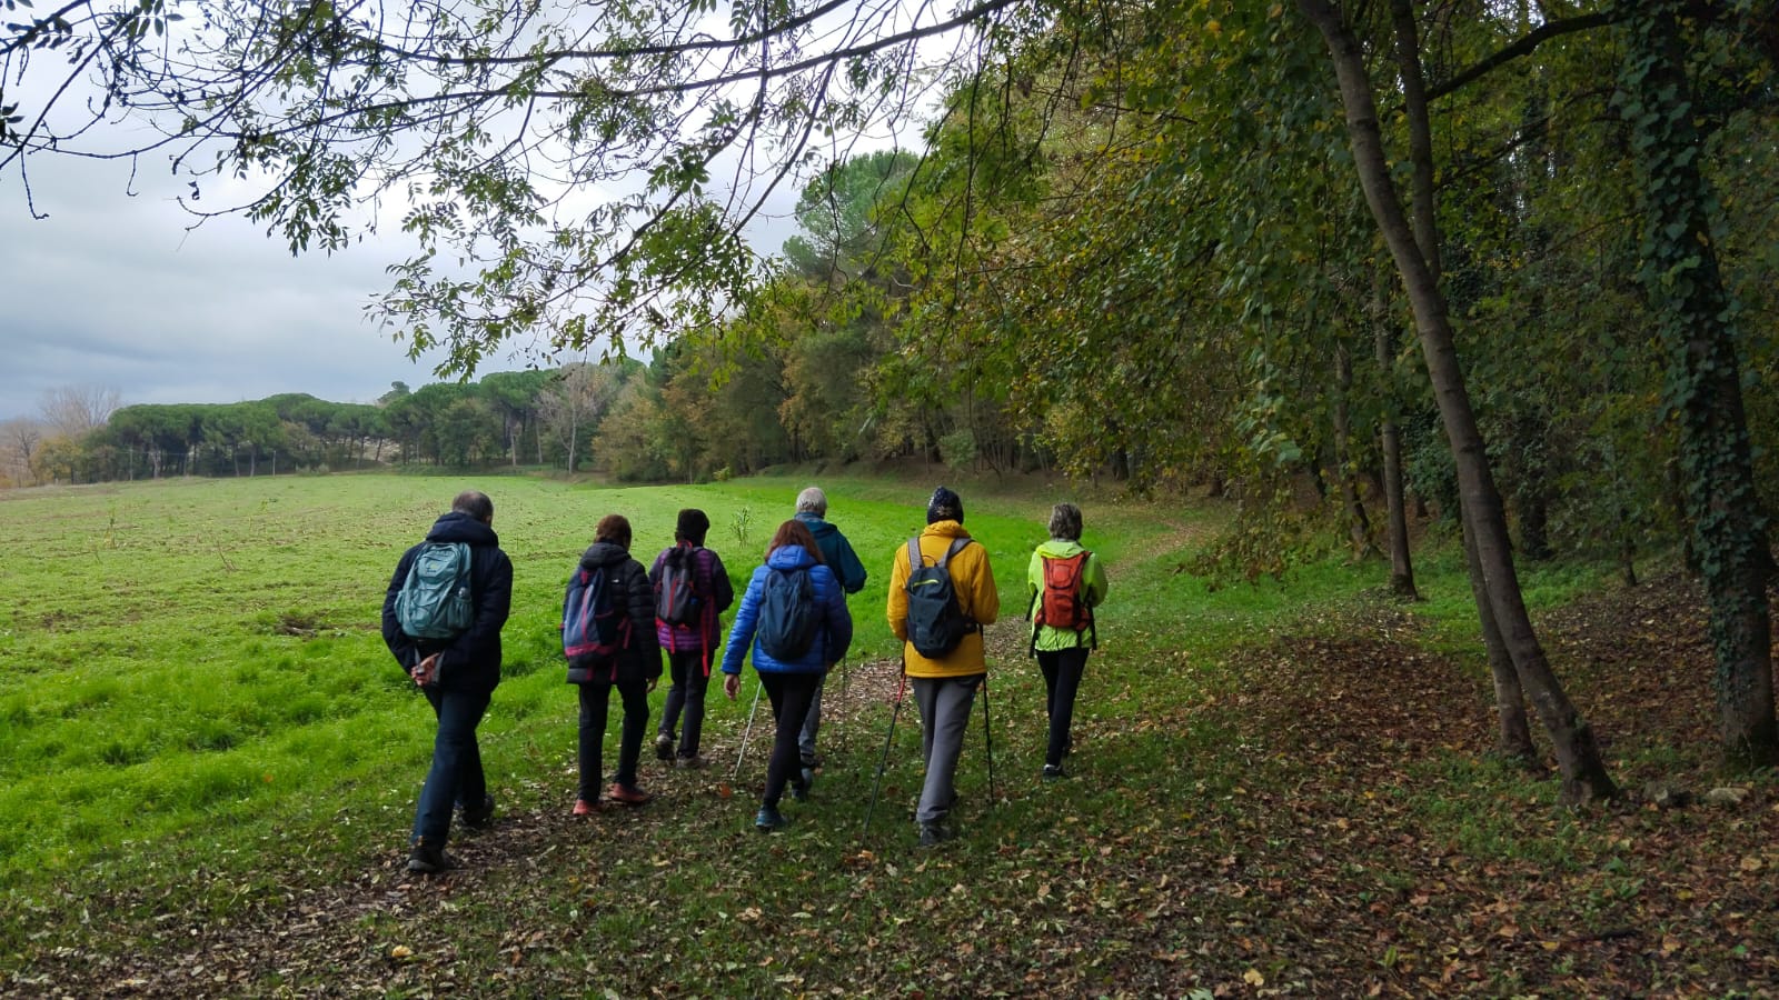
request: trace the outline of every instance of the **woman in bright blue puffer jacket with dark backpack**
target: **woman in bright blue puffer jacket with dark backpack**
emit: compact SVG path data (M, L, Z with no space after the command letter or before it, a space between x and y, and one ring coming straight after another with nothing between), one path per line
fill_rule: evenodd
M722 653L722 690L735 701L742 689L742 658L753 648L754 671L772 699L772 719L777 722L767 790L754 817L760 833L785 826L777 804L786 781L795 799L809 794L799 767L797 733L827 664L840 662L850 644L852 614L847 612L840 580L822 564L822 550L809 528L797 520L785 521L767 546L765 566L754 569L747 582Z

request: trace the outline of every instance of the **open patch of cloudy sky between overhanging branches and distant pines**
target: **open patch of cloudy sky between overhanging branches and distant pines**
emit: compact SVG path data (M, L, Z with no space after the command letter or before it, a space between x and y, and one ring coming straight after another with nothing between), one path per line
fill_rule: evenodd
M409 361L363 311L406 256L398 240L294 258L240 217L187 231L164 171L135 196L117 164L39 158L30 180L48 219L30 217L16 171L0 176L0 420L36 416L62 386L128 406L372 402L393 381L436 381L438 358Z

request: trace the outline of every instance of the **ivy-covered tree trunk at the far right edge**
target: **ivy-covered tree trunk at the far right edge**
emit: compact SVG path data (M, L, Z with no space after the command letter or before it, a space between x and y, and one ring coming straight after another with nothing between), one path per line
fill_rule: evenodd
M1733 767L1779 763L1774 719L1770 552L1754 491L1736 304L1717 265L1715 192L1699 171L1681 4L1633 5L1619 101L1642 190L1640 278L1669 351L1667 407L1679 420L1679 473L1694 555L1711 607L1717 712Z

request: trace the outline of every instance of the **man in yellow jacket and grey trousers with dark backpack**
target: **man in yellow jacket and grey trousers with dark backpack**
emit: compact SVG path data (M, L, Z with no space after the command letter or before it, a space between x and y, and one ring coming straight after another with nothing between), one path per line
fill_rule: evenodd
M897 548L890 569L890 630L904 642L902 669L913 681L914 705L920 706L927 783L920 792L914 820L920 824L920 843L930 847L954 836L954 829L945 826L945 817L957 797L952 781L964 749L970 708L975 705L977 689L987 680L980 626L993 625L1000 616L1000 594L994 591L987 550L973 543L964 530L964 502L957 493L943 486L934 489L932 500L927 502L927 530L909 541L911 544ZM955 607L966 625L962 637L957 637L955 646L948 649L941 651L945 641L938 646L927 641L925 633L934 625L929 617L932 603L923 596L909 600L907 582L916 571L911 550L918 550L920 566L943 566L950 573ZM918 582L930 582L927 580L930 573L920 577ZM914 621L911 621L911 603Z

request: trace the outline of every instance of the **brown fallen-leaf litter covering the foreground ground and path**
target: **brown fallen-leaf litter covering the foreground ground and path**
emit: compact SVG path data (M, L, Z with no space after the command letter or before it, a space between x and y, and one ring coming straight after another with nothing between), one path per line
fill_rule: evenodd
M1010 735L1041 728L1041 687L996 671L998 797L966 785L977 801L959 811L973 829L938 851L913 847L906 822L918 794L911 703L875 829L859 833L900 678L895 662L854 664L843 685L829 681L824 737L850 774L824 767L783 835L758 836L747 819L769 726L756 722L733 786L740 726L713 726L710 767L646 776L656 802L585 819L548 799L505 810L454 843L464 867L445 877L409 875L398 852L345 874L286 852L253 884L208 886L210 906L194 911L116 883L69 895L60 909L98 916L46 920L0 986L1772 996L1772 778L1743 779L1724 808L1640 794L1720 783L1695 587L1663 578L1590 596L1541 628L1626 788L1617 802L1560 810L1548 776L1491 758L1480 655L1429 651L1413 612L1379 601L1236 649L1217 690L1179 685L1178 703L1151 692L1135 717L1083 719L1085 753L1099 756L1067 788L1026 774L1041 733ZM1023 642L1019 623L996 628L994 662L1016 664ZM192 881L205 877L194 865Z

